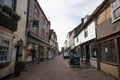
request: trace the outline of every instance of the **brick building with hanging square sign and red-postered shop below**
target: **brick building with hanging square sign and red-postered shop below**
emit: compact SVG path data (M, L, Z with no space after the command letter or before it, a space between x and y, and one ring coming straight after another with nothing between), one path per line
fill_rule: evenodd
M48 58L50 21L37 0L29 0L27 17L27 61Z

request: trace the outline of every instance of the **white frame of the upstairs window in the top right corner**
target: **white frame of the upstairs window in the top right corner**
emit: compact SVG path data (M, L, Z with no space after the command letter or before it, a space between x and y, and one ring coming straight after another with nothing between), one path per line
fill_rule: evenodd
M115 11L119 10L120 9L120 5L118 7L116 7L115 9L113 8L114 3L117 3L117 1L119 1L119 4L120 4L120 0L115 0L114 2L111 3L111 7L112 7L112 23L118 21L120 19L120 16L117 17L117 18L114 18L114 14L115 14Z

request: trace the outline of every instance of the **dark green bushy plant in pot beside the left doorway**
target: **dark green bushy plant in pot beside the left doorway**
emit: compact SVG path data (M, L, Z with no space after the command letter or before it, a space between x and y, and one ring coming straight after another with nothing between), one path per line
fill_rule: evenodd
M24 61L18 61L15 63L15 77L20 76L21 72L25 68L25 62Z

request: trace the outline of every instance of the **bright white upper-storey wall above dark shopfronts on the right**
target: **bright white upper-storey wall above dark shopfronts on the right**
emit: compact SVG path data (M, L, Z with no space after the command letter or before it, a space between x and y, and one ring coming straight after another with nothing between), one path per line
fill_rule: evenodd
M84 37L84 29L83 29L78 35L78 42L77 42L77 37L75 37L75 46L96 38L95 21L92 21L86 29L88 30L88 36Z

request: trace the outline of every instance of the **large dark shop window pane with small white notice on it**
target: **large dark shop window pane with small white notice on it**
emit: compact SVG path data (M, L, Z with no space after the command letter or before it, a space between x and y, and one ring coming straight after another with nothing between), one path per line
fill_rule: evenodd
M101 43L101 59L111 63L116 63L116 50L114 40Z

